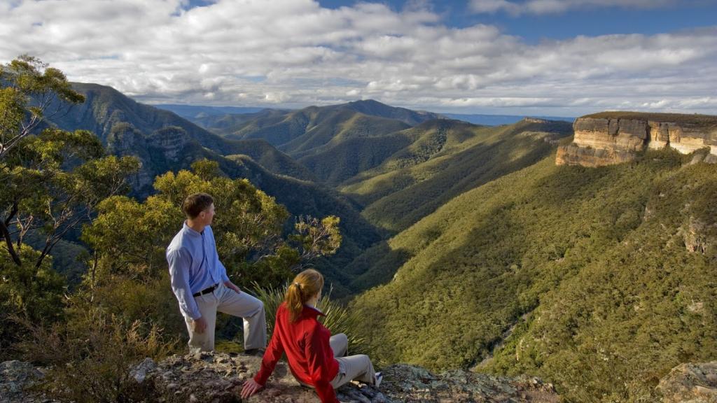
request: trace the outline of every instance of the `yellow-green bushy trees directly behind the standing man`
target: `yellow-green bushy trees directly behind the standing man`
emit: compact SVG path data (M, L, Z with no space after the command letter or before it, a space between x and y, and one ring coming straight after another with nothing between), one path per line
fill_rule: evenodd
M214 161L196 161L192 169L158 176L158 193L146 201L105 199L98 217L82 232L82 240L95 250L85 277L90 299L108 313L130 321L150 319L176 336L186 329L168 287L165 250L181 228L181 203L187 195L204 191L214 197L212 228L219 258L242 287L283 283L293 267L331 254L341 243L336 217L302 219L293 239L311 242L299 251L282 238L288 212L272 197L246 179L221 176Z

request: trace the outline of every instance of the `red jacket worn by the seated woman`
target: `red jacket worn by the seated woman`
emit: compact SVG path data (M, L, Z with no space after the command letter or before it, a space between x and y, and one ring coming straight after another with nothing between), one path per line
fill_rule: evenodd
M338 361L328 339L328 331L316 318L319 310L304 306L298 321L292 322L285 303L279 305L274 332L262 359L262 367L254 377L257 384L266 384L282 353L286 353L289 368L299 381L312 385L321 402L338 402L331 380L338 374Z

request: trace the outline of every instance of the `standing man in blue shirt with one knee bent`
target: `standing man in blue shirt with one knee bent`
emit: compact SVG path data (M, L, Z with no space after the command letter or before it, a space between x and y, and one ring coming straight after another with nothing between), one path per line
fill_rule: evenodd
M262 354L267 326L264 304L242 293L227 277L214 243L214 199L206 193L187 196L182 204L186 221L167 247L166 257L174 295L179 301L190 351L214 350L217 310L244 319L244 350Z

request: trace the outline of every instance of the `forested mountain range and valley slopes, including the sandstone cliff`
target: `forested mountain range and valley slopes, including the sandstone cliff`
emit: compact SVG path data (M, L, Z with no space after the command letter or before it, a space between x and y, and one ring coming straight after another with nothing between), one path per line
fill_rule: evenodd
M711 126L689 134L689 115L482 126L369 100L186 109L190 121L75 88L87 102L52 124L141 158L138 197L156 174L209 158L292 214L341 217L343 246L318 268L384 364L647 402L673 366L717 358L717 164L705 162L717 143ZM625 144L630 158L608 158Z

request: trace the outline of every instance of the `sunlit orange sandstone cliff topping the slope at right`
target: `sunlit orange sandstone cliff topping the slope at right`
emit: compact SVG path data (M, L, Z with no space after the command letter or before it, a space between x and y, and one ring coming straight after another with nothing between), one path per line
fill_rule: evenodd
M558 148L558 165L612 165L665 146L680 153L708 148L703 161L717 163L717 116L605 112L576 119L573 129L573 143Z

